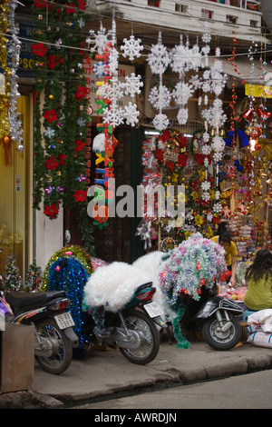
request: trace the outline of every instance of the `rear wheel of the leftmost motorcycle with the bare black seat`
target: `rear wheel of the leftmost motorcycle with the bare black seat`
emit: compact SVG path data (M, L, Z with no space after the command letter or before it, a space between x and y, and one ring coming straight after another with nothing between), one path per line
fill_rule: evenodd
M35 360L45 372L59 375L70 366L73 357L73 345L53 319L44 319L35 323L40 336L53 343L54 353L50 357L35 356Z

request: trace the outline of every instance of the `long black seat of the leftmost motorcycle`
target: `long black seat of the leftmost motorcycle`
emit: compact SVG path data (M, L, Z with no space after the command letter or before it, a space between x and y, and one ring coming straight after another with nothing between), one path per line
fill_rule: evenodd
M5 294L5 301L15 307L16 309L27 309L37 307L50 302L55 298L65 297L65 291L50 291L41 293L24 293L24 292L7 292Z

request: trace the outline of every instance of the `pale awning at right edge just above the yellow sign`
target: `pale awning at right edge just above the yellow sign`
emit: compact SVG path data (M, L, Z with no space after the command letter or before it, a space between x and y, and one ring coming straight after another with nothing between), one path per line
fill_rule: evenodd
M272 65L267 64L263 65L259 62L259 59L255 58L253 61L250 61L248 59L248 56L240 56L236 57L234 64L237 65L236 67L232 65L232 61L228 61L227 58L221 59L223 63L223 72L229 75L232 75L234 77L237 77L238 79L244 80L245 83L249 84L265 84L264 83L264 77L266 75L267 78L267 85L272 85ZM254 64L254 68L252 68L252 65ZM235 71L235 68L237 71ZM266 74L264 74L263 69L265 70ZM239 74L238 74L239 73ZM263 77L263 78L260 78Z

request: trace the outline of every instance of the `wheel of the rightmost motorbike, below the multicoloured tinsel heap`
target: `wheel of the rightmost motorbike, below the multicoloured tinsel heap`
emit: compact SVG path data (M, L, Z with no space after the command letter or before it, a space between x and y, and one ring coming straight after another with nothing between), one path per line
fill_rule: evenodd
M223 323L227 323L223 319ZM204 324L202 333L206 342L215 350L229 350L238 344L242 336L242 327L233 317L232 324L226 332L222 332L216 315L211 316Z

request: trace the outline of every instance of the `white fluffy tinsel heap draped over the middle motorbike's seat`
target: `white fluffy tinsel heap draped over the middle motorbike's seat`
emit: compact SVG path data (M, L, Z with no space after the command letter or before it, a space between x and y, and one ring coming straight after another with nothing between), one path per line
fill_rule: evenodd
M138 286L148 282L152 282L151 273L128 263L110 263L92 273L84 286L84 302L117 313L131 301Z

